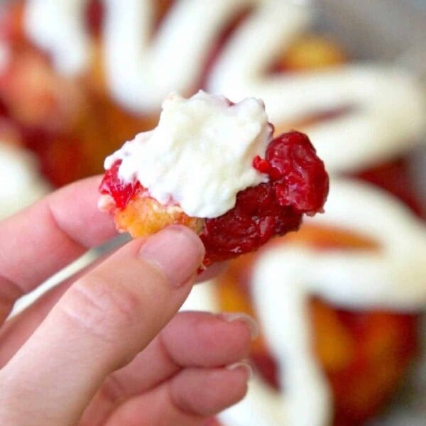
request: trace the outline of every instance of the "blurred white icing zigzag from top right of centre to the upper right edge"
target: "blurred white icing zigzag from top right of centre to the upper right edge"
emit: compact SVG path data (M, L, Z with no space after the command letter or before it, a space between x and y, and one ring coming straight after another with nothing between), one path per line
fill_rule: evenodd
M266 3L225 46L208 89L226 93L231 100L243 94L260 97L277 125L319 111L354 107L344 116L305 129L329 172L365 168L417 143L425 128L425 100L420 84L406 72L346 65L264 76L268 65L307 29L311 18L307 8L286 1Z

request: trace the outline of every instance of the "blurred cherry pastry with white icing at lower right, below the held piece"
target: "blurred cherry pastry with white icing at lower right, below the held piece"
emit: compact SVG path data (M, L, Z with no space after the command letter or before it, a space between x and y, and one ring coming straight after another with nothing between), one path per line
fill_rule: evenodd
M426 304L425 226L371 185L330 187L324 215L232 261L187 302L261 324L257 375L246 400L219 416L222 426L361 425L413 366Z

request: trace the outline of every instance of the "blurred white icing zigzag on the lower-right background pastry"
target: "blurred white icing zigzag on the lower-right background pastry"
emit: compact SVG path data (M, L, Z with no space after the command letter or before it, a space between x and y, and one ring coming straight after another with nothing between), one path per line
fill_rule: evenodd
M326 213L308 222L353 231L378 251L324 251L291 244L264 251L251 294L283 394L257 378L246 398L220 415L225 426L327 426L332 398L315 355L307 301L312 295L351 309L405 312L426 305L426 229L398 200L371 185L333 179ZM195 307L217 310L211 285ZM191 300L190 300L191 302ZM185 306L190 308L188 302Z

